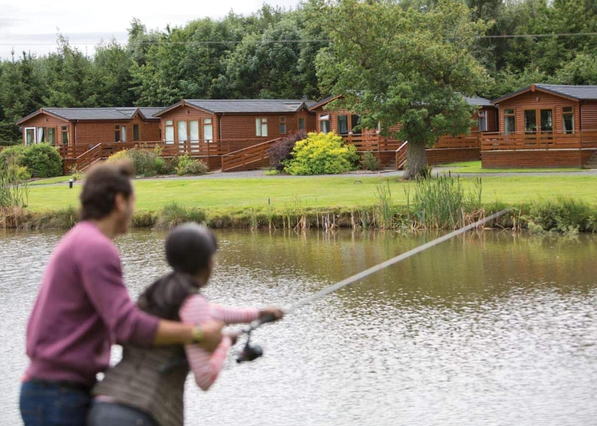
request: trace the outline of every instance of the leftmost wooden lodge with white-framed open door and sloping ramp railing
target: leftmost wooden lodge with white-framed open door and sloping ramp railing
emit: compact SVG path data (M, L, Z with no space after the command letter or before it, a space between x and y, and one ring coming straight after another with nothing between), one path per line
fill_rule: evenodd
M64 159L64 171L75 165L83 169L106 158L114 147L161 140L162 108L41 108L16 124L23 131L23 144L42 142L56 146ZM118 149L116 149L118 150Z

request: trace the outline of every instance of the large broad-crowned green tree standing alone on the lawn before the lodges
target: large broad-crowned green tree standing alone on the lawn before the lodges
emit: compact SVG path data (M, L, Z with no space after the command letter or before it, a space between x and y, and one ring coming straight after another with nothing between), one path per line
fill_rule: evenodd
M426 166L425 149L441 135L470 131L472 95L487 75L470 53L484 21L473 21L458 0L429 8L402 8L396 2L340 0L323 6L330 48L317 59L324 91L342 95L344 106L362 116L362 125L380 122L387 134L408 141L406 178Z

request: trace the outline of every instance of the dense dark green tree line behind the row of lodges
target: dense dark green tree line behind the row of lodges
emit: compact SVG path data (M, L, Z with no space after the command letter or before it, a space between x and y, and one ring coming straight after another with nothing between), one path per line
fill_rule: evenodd
M61 36L56 53L16 52L0 63L0 144L19 141L14 122L41 106L165 106L180 98L322 98L337 88L337 81L330 80L334 73L328 72L334 51L330 39L338 37L331 23L339 25L334 17L343 1L308 0L294 10L264 5L250 16L201 18L163 32L147 30L133 19L126 45L101 42L93 55ZM438 1L392 3L424 14ZM461 1L470 8L470 22L483 23L481 37L464 46L486 73L487 78L478 82L479 95L493 98L532 82L597 84L597 36L590 34L597 32L595 0ZM450 28L458 27L446 21L444 30ZM549 36L504 37L528 34ZM362 36L356 31L353 35ZM343 60L350 55L345 52Z

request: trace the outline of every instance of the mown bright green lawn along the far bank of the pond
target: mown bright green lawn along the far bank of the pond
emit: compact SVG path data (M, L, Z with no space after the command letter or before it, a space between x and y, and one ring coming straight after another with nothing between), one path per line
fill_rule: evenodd
M360 180L362 183L355 183ZM461 178L465 187L475 178ZM203 180L138 180L135 181L137 209L155 211L165 203L203 208L243 208L264 206L269 198L277 208L293 205L353 207L371 205L376 201L378 177L307 177L307 178L248 178ZM553 175L485 177L483 200L486 203L518 204L532 200L570 196L597 205L597 176ZM413 185L390 178L393 201L404 204L405 188ZM42 211L78 204L81 185L74 189L65 186L30 187L29 209Z

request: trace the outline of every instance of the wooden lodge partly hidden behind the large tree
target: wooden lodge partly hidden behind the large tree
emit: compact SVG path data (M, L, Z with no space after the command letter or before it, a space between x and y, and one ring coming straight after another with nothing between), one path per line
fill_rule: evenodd
M326 106L340 98L332 96L309 108L316 115L316 131L334 132L346 143L356 145L359 152L371 151L381 165L402 168L407 156L407 143L380 135L380 129L361 129L360 117L346 109L328 109ZM469 135L441 136L433 148L427 149L430 165L481 158L481 133L497 129L497 112L491 101L481 97L464 97L470 105L478 107L473 119L475 125ZM398 131L399 125L390 128Z

